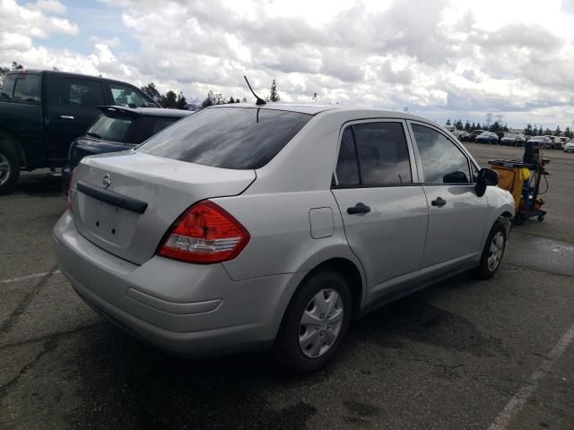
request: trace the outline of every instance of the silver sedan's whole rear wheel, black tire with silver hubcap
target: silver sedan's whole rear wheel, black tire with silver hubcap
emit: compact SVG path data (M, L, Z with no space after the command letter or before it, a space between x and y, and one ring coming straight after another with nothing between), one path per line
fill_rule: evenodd
M274 356L301 374L325 367L341 346L351 322L351 292L335 271L304 280L283 316Z

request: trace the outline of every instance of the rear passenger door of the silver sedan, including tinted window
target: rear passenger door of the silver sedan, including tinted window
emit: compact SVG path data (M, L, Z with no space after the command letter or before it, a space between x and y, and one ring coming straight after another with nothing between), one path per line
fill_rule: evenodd
M413 280L422 261L428 208L402 121L346 125L332 192L372 301Z

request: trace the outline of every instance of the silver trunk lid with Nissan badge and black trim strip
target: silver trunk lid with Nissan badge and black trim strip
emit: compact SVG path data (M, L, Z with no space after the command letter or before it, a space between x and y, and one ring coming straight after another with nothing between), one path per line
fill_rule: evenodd
M255 179L254 170L212 168L134 150L89 157L74 175L74 221L93 244L142 264L189 206L240 194Z

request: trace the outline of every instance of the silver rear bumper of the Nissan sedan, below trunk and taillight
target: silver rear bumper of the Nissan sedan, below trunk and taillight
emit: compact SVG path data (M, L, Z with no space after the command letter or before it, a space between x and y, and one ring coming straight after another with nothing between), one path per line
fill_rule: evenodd
M135 336L192 356L269 348L305 275L234 281L222 264L159 256L138 266L91 244L69 211L53 236L58 266L86 303Z

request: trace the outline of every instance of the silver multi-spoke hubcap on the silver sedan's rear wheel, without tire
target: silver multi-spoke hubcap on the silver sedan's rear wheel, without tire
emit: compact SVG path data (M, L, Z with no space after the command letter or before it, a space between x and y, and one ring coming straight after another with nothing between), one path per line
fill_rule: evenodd
M343 307L343 299L331 288L309 300L299 323L299 346L306 357L321 357L333 346L343 326Z

